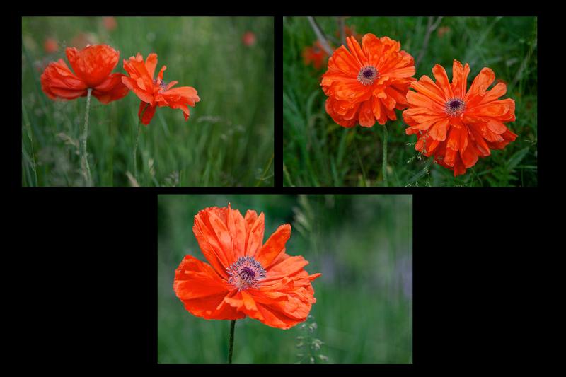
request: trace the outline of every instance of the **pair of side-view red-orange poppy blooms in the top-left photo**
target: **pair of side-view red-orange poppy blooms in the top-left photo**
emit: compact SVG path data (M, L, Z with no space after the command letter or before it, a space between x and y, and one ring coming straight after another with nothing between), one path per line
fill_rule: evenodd
M162 66L154 79L157 54L149 54L144 62L141 54L124 60L124 69L129 76L112 74L120 52L108 45L90 45L83 50L69 47L65 51L71 71L63 59L50 63L41 75L41 88L52 100L63 98L73 100L91 93L100 103L108 104L120 100L128 91L136 93L141 100L138 116L145 125L151 122L157 107L168 106L183 110L185 120L189 119L188 106L195 106L200 98L195 88L182 86L173 88L178 81L163 81Z

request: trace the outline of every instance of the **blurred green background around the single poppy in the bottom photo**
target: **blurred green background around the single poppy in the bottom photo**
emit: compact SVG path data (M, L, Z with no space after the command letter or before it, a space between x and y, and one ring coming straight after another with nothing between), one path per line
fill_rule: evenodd
M159 363L226 362L230 321L185 311L173 277L185 255L206 261L192 233L195 214L229 202L241 214L265 213L264 242L291 224L287 253L303 255L309 274L322 273L306 327L238 320L233 362L412 363L411 195L159 195ZM306 349L316 340L320 349Z

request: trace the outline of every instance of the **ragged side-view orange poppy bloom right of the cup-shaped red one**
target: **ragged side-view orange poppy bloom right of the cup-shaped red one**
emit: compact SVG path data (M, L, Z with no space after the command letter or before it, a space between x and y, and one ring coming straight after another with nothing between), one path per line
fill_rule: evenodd
M157 54L149 54L145 62L139 53L135 57L130 57L129 61L124 60L124 69L129 77L122 77L122 83L136 93L141 100L138 112L139 117L143 112L141 123L147 125L151 122L157 106L181 109L185 120L188 120L189 106L194 107L195 103L200 101L197 90L190 86L172 88L178 81L170 83L163 81L163 71L167 69L166 66L161 67L157 78L154 79L156 66Z

